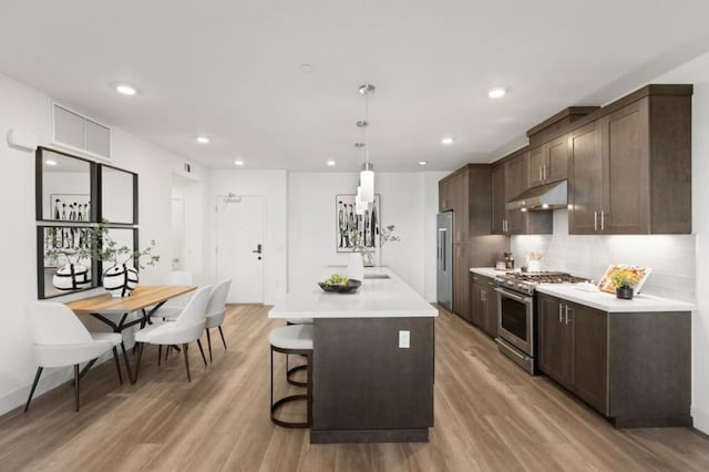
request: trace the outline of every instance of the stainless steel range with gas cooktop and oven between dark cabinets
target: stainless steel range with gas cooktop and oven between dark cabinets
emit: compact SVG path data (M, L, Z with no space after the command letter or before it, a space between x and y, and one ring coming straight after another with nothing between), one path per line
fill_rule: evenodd
M536 286L587 281L565 273L506 273L496 277L497 346L527 372L535 372Z

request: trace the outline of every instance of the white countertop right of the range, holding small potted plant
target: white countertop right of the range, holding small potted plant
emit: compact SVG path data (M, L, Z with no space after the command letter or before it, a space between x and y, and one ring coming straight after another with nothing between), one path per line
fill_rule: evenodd
M576 284L540 284L536 289L542 294L608 312L691 311L696 309L692 304L645 294L636 295L631 300L621 300L616 298L615 294L606 291L580 290Z

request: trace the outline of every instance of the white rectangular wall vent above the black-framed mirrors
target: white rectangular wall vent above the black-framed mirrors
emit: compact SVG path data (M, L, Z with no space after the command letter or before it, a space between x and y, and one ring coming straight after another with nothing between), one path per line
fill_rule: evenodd
M52 143L92 157L111 158L111 129L52 102Z

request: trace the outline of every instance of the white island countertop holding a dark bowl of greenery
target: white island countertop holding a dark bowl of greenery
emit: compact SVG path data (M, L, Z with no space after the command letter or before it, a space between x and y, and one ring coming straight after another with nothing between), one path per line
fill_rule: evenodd
M436 317L435 307L413 291L403 280L386 267L364 268L367 274L386 274L390 278L364 278L354 294L326 293L318 287L332 274L345 274L345 268L327 267L276 302L269 318L404 318Z

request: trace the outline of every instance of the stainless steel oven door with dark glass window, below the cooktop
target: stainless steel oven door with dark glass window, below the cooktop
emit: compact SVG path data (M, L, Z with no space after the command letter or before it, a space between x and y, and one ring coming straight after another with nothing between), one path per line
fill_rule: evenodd
M534 357L534 298L504 288L497 293L497 335L522 352Z

